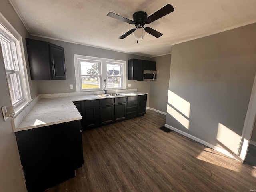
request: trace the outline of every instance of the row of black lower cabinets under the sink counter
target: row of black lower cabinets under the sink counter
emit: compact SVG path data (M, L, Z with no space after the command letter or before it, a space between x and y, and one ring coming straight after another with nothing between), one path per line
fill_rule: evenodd
M82 116L82 130L142 116L146 113L147 95L103 98L74 102Z

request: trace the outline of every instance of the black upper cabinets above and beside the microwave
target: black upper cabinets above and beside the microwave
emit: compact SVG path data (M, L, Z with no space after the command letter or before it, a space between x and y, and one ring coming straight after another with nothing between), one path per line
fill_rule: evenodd
M128 60L128 80L143 80L144 70L156 70L155 61L129 59Z

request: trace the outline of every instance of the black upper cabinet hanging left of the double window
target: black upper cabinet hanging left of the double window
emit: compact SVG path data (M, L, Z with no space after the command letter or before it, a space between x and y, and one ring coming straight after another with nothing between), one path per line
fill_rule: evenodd
M31 80L66 80L64 48L26 39Z

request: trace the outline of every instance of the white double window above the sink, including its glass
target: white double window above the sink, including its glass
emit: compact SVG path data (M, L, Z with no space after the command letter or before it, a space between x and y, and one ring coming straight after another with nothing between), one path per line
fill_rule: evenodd
M125 89L125 61L74 55L76 90Z

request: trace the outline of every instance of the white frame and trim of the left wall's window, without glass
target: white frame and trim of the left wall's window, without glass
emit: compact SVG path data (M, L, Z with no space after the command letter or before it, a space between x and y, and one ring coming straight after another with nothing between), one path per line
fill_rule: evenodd
M24 56L24 49L23 49L23 42L22 36L12 27L12 25L4 18L4 16L0 13L0 33L2 37L5 37L5 40L10 41L12 51L16 52L14 54L14 62L16 65L16 70L6 70L5 66L5 73L7 75L8 72L19 74L19 81L20 84L20 94L22 98L18 102L12 103L14 106L15 112L18 112L25 104L31 100L30 89L28 84L28 74L25 65L25 56ZM2 54L2 50L0 52ZM6 76L7 80L7 76ZM9 86L8 86L9 90ZM10 93L10 90L9 90ZM12 102L11 98L10 101Z

